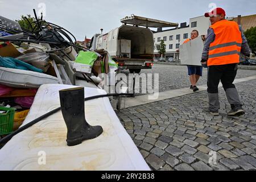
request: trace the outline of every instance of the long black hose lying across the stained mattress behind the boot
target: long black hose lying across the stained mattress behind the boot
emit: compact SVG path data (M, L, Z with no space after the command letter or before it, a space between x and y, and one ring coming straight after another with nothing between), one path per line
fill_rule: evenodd
M102 98L102 97L111 97L111 96L132 96L133 94L128 94L128 93L121 93L121 94L105 94L105 95L98 95L98 96L92 96L92 97L87 97L84 99L84 101L90 101L90 100L94 100L96 98ZM30 123L27 123L27 125L24 125L22 127L20 127L18 130L14 131L13 133L7 135L6 137L2 138L0 140L0 145L4 144L6 142L8 142L11 138L13 138L16 134L28 129L29 127L35 125L36 123L38 123L39 121L41 121L44 118L49 117L52 114L57 113L57 111L61 110L61 107L58 107L57 109L54 109L52 111L49 111L48 113L40 116L39 118L34 119L33 121L31 121Z

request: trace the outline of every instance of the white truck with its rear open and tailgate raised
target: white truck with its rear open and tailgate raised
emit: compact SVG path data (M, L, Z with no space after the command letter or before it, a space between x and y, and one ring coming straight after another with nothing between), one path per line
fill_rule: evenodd
M95 34L90 43L92 51L105 49L118 64L119 69L140 73L152 69L154 61L154 36L148 28L177 27L179 24L142 16L126 16L122 26L107 34Z

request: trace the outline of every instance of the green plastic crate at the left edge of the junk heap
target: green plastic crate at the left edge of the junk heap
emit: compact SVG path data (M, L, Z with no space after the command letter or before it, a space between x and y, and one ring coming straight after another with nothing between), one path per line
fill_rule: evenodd
M15 109L0 107L0 111L7 111L0 114L0 135L7 135L13 131Z

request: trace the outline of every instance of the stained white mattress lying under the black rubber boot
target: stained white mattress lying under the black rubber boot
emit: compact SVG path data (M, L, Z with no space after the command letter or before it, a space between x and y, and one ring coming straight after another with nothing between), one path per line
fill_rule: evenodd
M59 90L70 85L42 85L23 125L60 106ZM85 88L85 96L106 94ZM85 102L90 125L101 125L104 133L78 146L68 147L67 127L61 111L13 137L0 150L0 170L150 170L133 140L121 125L109 98ZM46 152L46 165L39 165L38 154Z

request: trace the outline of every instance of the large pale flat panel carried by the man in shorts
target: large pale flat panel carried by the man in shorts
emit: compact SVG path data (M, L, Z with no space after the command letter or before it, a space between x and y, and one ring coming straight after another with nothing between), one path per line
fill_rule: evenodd
M180 45L179 50L181 64L201 66L203 49L204 42L201 36L189 41L188 43Z

